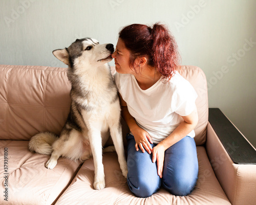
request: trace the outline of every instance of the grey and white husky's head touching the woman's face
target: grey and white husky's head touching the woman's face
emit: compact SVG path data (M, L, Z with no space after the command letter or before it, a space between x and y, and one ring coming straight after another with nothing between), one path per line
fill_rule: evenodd
M63 63L73 67L80 64L99 66L112 60L114 45L111 43L99 44L96 39L76 39L68 48L57 49L52 53Z

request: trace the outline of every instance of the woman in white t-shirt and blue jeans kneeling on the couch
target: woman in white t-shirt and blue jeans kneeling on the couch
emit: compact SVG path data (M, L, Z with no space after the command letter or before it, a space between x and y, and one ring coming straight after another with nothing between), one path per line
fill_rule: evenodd
M194 128L197 94L177 71L179 54L164 25L133 24L119 32L115 82L127 134L127 183L138 197L162 185L184 196L198 178Z

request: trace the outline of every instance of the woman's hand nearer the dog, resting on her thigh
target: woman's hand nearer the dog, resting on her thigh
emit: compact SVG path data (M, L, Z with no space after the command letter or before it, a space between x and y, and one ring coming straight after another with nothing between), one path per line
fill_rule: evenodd
M135 148L137 151L139 151L139 147L141 151L144 153L145 150L148 152L148 154L151 154L152 147L151 144L153 144L150 134L148 134L147 131L140 128L139 126L136 127L136 129L131 130L132 134L134 135L135 139ZM151 143L151 144L150 144Z

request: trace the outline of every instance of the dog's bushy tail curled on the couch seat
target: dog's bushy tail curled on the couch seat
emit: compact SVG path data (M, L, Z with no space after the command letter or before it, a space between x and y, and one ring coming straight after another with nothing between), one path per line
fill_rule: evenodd
M58 137L51 132L40 132L29 141L29 150L39 154L50 155L52 153L52 144Z

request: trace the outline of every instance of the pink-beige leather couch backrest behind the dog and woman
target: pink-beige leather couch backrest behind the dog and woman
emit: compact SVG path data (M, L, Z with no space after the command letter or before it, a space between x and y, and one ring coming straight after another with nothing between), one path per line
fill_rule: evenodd
M196 66L181 66L179 72L198 93L195 140L202 145L208 122L205 75ZM59 134L70 110L70 89L65 68L0 65L0 139L29 140L40 131Z

